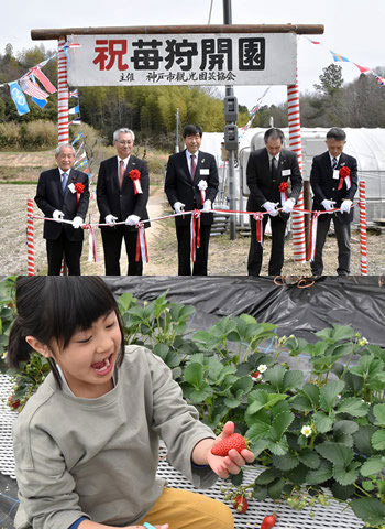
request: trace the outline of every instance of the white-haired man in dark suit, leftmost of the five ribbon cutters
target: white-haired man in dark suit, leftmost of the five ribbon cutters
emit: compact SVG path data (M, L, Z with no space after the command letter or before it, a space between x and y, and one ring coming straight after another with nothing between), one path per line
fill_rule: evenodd
M70 276L80 274L84 224L88 210L88 176L73 169L74 148L62 144L55 153L57 169L44 171L38 179L35 202L45 217L57 220L44 222L48 274L58 276L63 256ZM80 185L81 184L81 185ZM73 220L73 225L61 220Z

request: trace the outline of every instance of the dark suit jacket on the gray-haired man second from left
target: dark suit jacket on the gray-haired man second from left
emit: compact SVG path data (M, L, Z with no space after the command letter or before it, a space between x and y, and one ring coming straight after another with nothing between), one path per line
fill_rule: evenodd
M138 169L141 173L143 193L135 195L135 187L129 173ZM117 222L125 220L129 215L138 215L141 220L148 218L146 205L150 193L150 176L147 162L133 154L127 164L122 188L119 188L118 156L101 162L97 184L97 202L100 212L100 223L106 223L107 215L118 217ZM148 228L150 224L144 225ZM125 226L129 231L135 231L135 226Z

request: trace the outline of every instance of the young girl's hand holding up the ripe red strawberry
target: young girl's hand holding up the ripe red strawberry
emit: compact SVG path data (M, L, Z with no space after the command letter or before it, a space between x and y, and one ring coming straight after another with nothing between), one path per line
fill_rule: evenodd
M222 433L218 435L213 444L217 444L232 433L234 433L234 423L229 421L224 424ZM241 466L246 463L253 463L254 460L255 456L253 452L246 449L242 450L241 453L235 449L231 449L229 454L224 457L211 454L211 449L207 452L208 464L211 469L223 479L227 479L230 474L239 474L241 472Z

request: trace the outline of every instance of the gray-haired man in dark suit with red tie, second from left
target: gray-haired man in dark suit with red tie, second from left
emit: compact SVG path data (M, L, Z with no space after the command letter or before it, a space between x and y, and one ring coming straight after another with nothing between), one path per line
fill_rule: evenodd
M113 133L117 156L101 162L97 184L97 202L105 250L106 276L120 276L120 253L124 239L129 260L128 276L142 276L141 256L136 262L136 224L148 218L146 205L150 192L147 163L132 154L135 134L130 129ZM116 223L125 222L125 225ZM145 228L148 223L145 223Z

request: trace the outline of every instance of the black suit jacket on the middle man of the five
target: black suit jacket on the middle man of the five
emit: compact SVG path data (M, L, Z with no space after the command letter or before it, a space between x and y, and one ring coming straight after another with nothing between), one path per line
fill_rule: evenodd
M201 209L204 207L198 183L206 180L206 199L213 202L218 193L218 169L217 162L212 154L208 152L198 153L197 169L194 181L187 164L186 150L173 154L168 159L167 172L165 180L165 192L170 206L176 202L185 204L186 212L191 209ZM202 225L210 225L213 222L212 213L205 213L200 217ZM190 215L175 217L177 226L188 226L190 223Z

